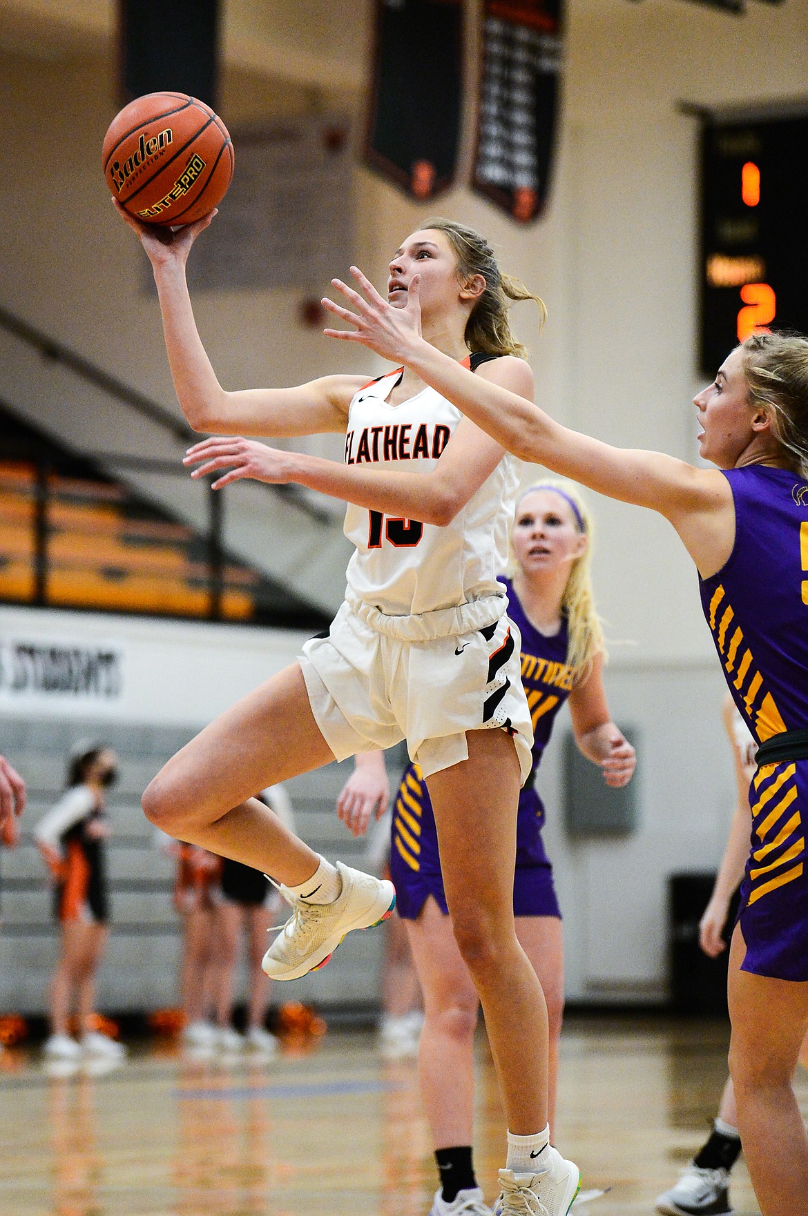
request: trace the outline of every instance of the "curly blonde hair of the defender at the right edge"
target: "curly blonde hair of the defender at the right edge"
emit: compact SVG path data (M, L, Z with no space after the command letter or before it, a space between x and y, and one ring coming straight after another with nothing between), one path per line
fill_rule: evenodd
M775 439L808 478L808 339L753 333L740 349L750 399L768 412Z

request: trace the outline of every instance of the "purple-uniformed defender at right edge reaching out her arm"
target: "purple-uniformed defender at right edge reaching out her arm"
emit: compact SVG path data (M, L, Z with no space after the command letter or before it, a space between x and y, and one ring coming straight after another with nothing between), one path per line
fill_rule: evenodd
M465 417L516 456L658 511L698 569L728 686L761 743L729 970L739 1130L763 1216L808 1216L808 1136L792 1086L808 1028L808 339L763 331L728 355L694 399L701 456L718 467L694 468L578 434L494 384L472 388L421 336L416 289L392 316L357 281L354 340L462 399Z

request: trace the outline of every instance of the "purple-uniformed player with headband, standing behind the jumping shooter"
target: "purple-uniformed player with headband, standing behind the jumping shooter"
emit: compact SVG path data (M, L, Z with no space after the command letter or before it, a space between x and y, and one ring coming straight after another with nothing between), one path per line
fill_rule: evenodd
M550 1041L549 1118L552 1127L559 1037L563 1010L563 944L552 867L544 849L544 805L535 773L555 717L569 700L572 725L584 755L611 786L634 771L634 749L611 721L604 692L604 643L589 581L590 523L572 485L546 483L518 501L511 545L515 574L501 578L507 617L521 635L521 674L533 721L533 764L518 800L514 913L520 942L544 991ZM380 753L357 758L367 781L385 781ZM375 805L374 788L370 806ZM343 816L344 817L344 816ZM366 823L366 818L365 818ZM357 823L352 820L355 829ZM467 831L483 827L470 809ZM417 765L406 769L393 804L391 877L405 921L423 991L420 1081L441 1173L432 1216L486 1216L472 1166L473 1034L478 1000L448 916L438 854L438 831L427 782Z

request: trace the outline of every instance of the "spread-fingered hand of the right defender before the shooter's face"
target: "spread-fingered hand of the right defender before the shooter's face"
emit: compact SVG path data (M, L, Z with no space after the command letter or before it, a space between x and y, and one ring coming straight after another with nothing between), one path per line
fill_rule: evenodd
M413 343L421 337L421 276L413 275L406 286L406 303L402 308L383 299L358 266L352 266L350 274L357 280L360 291L343 283L341 278L332 278L331 283L352 308L337 304L327 295L322 298L322 306L342 321L353 325L354 328L324 330L322 332L329 338L360 342L392 362L406 362Z

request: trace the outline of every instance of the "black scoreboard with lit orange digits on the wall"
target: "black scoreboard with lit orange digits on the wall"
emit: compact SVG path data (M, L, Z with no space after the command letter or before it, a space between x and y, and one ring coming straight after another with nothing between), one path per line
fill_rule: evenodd
M702 131L701 370L756 330L808 333L808 113Z

